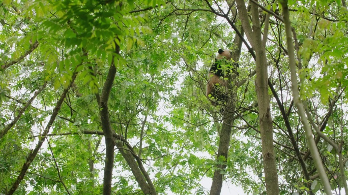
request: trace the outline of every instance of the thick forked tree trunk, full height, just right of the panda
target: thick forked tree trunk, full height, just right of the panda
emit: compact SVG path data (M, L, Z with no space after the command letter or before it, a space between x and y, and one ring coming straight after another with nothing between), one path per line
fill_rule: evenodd
M268 74L265 43L261 37L261 26L258 16L258 7L251 4L252 28L250 26L245 2L237 0L237 9L239 11L242 26L245 35L251 43L256 54L256 95L259 112L259 126L262 140L262 155L264 160L264 173L266 182L266 191L268 195L279 194L278 174L274 156L273 146L273 126L270 112L270 98L268 95ZM265 31L266 32L266 31ZM267 37L267 32L264 34ZM264 40L266 40L264 37Z

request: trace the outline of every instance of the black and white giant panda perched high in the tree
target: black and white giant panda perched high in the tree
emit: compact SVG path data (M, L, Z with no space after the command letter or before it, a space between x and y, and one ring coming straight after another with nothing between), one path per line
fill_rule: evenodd
M217 101L223 101L225 95L223 93L223 87L227 87L227 80L224 80L229 73L236 73L238 76L237 68L239 67L238 63L233 63L230 61L232 57L232 51L229 49L219 49L218 55L215 57L215 62L212 64L209 73L208 73L208 83L207 83L207 92L206 95L209 98L211 94L213 99L213 105ZM217 90L217 87L221 86L221 90ZM214 103L215 102L215 103Z

